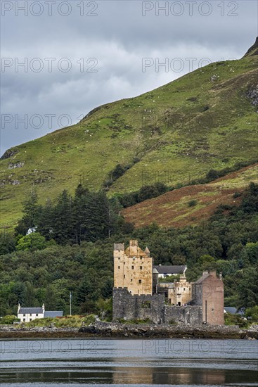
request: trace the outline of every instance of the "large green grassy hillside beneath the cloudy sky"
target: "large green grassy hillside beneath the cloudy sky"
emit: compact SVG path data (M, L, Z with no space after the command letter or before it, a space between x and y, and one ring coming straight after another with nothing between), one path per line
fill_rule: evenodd
M155 181L175 185L257 156L257 49L212 63L131 99L100 106L72 127L6 151L1 158L1 226L21 202L41 201L81 180L109 195ZM124 175L110 173L121 164Z

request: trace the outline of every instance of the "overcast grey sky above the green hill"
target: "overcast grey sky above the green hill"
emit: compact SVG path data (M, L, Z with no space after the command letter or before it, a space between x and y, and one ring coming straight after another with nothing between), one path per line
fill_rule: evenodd
M2 0L1 154L103 103L242 57L257 15L255 0Z

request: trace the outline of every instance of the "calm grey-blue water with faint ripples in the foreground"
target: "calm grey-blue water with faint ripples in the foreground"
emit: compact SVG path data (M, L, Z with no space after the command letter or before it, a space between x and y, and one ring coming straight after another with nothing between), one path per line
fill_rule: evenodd
M257 341L2 340L0 386L258 386Z

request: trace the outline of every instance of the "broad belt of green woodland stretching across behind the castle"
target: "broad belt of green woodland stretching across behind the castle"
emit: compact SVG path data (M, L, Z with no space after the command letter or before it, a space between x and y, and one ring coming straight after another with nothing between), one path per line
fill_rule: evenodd
M82 191L82 187L79 190ZM120 227L120 217L118 220L115 217L118 225L110 235L107 221L105 227L98 228L97 220L90 220L90 216L93 217L87 204L90 199L82 199L83 196L77 193L71 198L63 193L56 206L47 204L53 213L60 216L56 219L57 226L47 223L44 215L46 220L38 223L37 231L40 232L30 236L18 235L16 239L8 234L1 235L0 315L16 312L18 301L24 306L37 306L44 302L48 309L61 309L68 313L70 291L74 313L100 312L112 294L112 244L123 241L128 244L129 239L138 239L143 248L147 245L155 265L186 264L189 281L198 279L204 269L222 272L226 306L254 307L258 304L257 184L251 183L245 192L235 194L240 196L240 205L219 206L210 220L198 227L162 229L151 224L141 229L130 229L123 223ZM81 200L82 208L79 204ZM98 206L107 203L103 194L98 200ZM33 203L32 198L28 201L30 211L28 208L25 210L18 226L19 232L22 224L27 229L32 220L39 219L38 210L41 216L44 213L38 207L36 198ZM108 205L103 205L102 211L103 208L107 210ZM66 217L63 216L62 206L65 206ZM62 224L69 226L67 218L72 221L75 208L80 216L78 223L73 229L65 231L66 234L58 234L63 233L60 231ZM92 222L90 228L84 220L84 213ZM96 210L92 213L103 219L101 212ZM49 231L51 227L56 241L53 241ZM80 245L77 243L79 235Z

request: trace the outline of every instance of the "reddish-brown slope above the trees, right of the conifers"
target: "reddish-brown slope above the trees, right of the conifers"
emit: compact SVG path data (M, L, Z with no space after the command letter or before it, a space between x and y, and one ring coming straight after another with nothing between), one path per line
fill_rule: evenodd
M207 220L217 206L240 201L249 182L258 182L258 165L245 167L209 184L185 186L122 210L127 222L145 227L155 222L161 227L185 227ZM238 193L239 196L233 194Z

